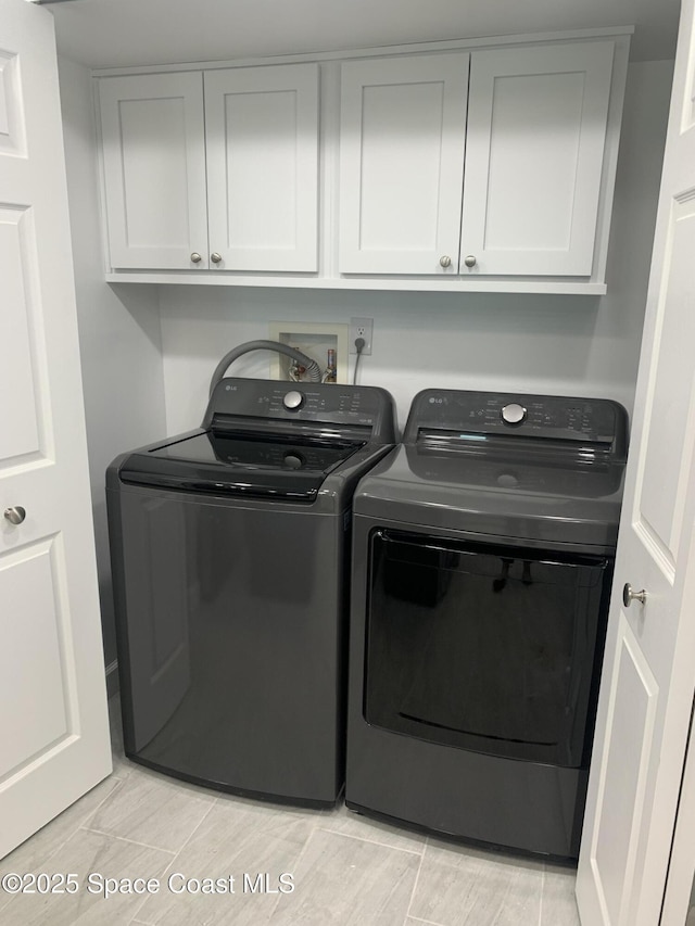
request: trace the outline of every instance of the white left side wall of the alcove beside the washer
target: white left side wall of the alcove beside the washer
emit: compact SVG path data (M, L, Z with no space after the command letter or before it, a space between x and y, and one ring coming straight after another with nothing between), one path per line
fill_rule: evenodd
M91 75L65 59L59 69L104 657L110 664L116 655L104 472L117 453L165 430L159 299L155 287L112 288L104 282Z

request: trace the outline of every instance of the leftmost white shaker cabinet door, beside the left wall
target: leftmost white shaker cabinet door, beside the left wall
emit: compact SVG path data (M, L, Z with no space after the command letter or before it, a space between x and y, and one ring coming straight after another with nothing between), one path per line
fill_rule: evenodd
M104 77L99 98L112 267L206 267L202 74Z

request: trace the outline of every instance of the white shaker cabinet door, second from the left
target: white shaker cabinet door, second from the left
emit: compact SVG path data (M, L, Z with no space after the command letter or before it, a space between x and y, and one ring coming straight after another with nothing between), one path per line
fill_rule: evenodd
M205 130L213 265L316 270L318 65L206 73Z

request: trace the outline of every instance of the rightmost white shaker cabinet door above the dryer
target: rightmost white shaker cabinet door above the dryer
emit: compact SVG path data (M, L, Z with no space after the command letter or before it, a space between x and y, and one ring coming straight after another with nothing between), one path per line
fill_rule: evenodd
M612 58L610 41L472 53L463 274L591 275Z

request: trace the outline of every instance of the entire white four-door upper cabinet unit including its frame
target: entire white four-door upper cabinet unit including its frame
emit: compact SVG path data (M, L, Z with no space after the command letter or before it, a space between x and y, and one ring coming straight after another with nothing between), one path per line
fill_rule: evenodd
M598 295L630 31L97 74L109 279Z

